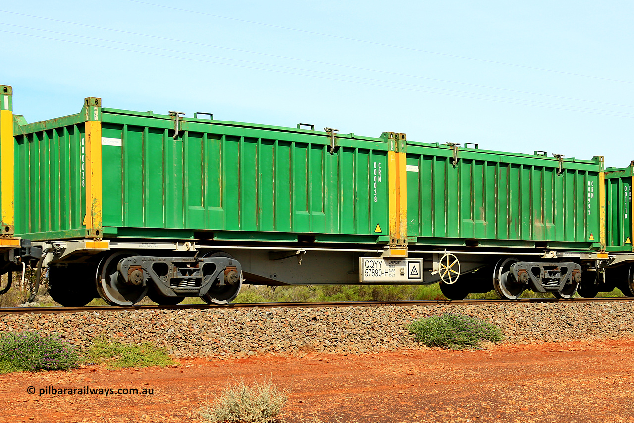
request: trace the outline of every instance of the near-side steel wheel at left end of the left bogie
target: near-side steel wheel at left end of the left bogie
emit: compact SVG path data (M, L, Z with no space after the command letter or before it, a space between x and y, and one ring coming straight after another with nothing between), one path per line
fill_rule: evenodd
M101 259L96 272L97 292L110 305L129 307L141 301L148 287L126 283L119 275L117 265L121 260L132 257L130 253L114 253Z

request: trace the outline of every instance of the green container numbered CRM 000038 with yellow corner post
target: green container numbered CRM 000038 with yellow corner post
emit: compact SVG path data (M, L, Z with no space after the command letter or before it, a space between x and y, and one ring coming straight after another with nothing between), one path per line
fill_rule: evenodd
M390 241L390 133L332 137L98 98L58 119L14 117L15 233L34 241Z

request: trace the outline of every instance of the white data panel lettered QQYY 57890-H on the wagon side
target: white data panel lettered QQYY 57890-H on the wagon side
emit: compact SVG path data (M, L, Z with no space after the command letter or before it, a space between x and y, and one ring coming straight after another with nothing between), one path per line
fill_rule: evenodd
M361 282L422 282L421 258L359 258Z

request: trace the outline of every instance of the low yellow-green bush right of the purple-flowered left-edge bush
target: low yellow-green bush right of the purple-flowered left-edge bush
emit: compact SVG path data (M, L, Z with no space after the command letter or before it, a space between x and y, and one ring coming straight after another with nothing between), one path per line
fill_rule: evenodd
M109 368L169 366L176 364L164 349L149 342L141 345L124 344L115 340L98 338L89 347L86 362L106 363Z

